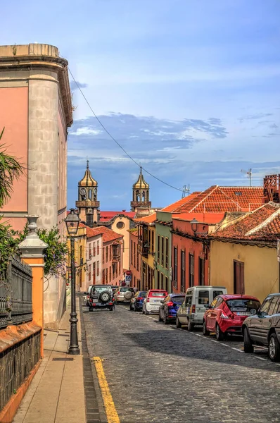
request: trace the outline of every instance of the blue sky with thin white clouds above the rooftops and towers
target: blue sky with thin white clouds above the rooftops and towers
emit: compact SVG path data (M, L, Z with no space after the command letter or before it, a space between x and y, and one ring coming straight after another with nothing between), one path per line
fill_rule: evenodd
M1 44L56 45L115 140L179 189L144 171L153 207L184 185L280 173L279 0L9 0L1 11ZM129 210L139 167L70 85L68 207L88 158L101 210Z

